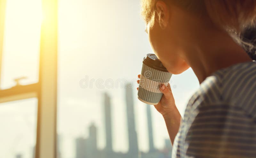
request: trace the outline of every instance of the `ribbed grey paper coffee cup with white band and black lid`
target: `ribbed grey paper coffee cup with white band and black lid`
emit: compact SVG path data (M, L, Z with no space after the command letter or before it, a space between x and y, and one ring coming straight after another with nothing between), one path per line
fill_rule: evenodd
M163 96L160 84L167 86L171 76L155 54L147 54L143 59L138 99L143 103L156 105Z

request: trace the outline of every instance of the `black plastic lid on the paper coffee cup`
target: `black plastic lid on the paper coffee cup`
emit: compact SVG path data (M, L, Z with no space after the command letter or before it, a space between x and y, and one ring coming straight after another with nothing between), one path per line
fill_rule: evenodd
M143 58L143 63L149 66L150 68L168 72L168 70L164 67L162 62L156 57L155 54L147 54L147 56Z

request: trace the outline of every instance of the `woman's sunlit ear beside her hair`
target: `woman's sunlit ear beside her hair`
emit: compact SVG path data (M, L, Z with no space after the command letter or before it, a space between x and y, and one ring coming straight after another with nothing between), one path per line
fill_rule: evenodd
M163 1L156 2L155 20L162 29L165 29L169 22L169 8Z

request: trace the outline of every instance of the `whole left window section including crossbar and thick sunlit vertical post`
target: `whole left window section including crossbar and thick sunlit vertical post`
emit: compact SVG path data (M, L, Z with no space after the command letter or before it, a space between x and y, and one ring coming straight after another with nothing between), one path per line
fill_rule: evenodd
M3 148L7 151L1 154L17 158L55 158L57 1L0 0L0 22L0 103L3 104L0 111L20 119L13 120L3 114L1 123L10 126L4 131L10 141L16 141L12 136L27 139L17 140L15 145L6 142ZM32 106L34 102L23 103L24 99L31 98L36 99L37 106ZM37 111L31 112L34 109ZM23 131L26 125L19 124L27 117L33 121L34 128L36 126L36 133L29 131L30 137ZM20 129L13 131L13 128Z

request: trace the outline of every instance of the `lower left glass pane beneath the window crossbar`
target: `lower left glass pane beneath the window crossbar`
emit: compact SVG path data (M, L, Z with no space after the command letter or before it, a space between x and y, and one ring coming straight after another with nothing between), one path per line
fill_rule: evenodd
M36 145L37 98L0 104L0 157L33 158Z

